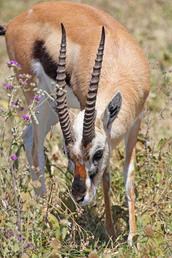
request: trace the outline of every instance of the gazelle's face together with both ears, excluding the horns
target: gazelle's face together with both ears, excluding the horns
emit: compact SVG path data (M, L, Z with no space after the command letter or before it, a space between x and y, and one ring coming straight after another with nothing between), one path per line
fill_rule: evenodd
M56 101L45 91L44 93L48 97L52 110L56 112ZM90 203L95 196L97 184L108 165L111 155L110 134L107 134L107 132L110 132L112 123L118 117L121 105L122 95L118 91L107 104L103 114L96 117L93 123L95 134L87 144L83 142L85 110L80 112L78 116L70 112L75 140L66 142L63 137L63 148L69 161L69 172L73 175L72 195L79 205Z

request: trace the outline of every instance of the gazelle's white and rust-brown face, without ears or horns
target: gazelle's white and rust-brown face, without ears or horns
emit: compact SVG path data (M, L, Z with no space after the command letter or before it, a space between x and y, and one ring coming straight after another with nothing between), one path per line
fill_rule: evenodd
M73 175L72 196L79 205L86 205L93 200L97 184L107 166L110 146L103 124L95 122L95 137L88 145L82 143L84 112L73 121L77 140L74 144L64 145L64 153L69 161L68 170ZM80 123L79 123L80 122ZM99 127L96 126L99 124ZM100 130L101 128L101 130Z

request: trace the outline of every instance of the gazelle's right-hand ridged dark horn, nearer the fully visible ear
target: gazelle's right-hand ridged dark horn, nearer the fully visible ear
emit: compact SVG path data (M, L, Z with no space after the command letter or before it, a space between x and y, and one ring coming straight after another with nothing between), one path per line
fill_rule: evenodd
M102 27L100 45L97 52L97 58L95 59L95 65L93 66L92 78L90 80L90 86L87 94L87 101L85 106L84 123L83 123L83 138L82 142L87 145L95 136L95 102L97 96L97 90L99 86L99 77L101 70L101 63L103 60L103 50L105 44L105 29Z

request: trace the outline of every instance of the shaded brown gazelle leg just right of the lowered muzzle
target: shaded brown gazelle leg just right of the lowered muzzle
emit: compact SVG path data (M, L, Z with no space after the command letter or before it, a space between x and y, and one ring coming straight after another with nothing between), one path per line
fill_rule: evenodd
M112 210L110 203L110 168L109 164L105 168L105 171L102 176L102 184L103 184L103 195L105 201L105 222L104 229L106 234L112 236L112 239L115 240L118 236L116 234L116 228L114 225L114 221L112 218Z

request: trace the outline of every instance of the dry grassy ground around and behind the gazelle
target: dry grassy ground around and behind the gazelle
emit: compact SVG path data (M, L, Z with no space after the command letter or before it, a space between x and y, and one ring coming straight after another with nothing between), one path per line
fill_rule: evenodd
M0 1L0 24L7 23L17 14L38 3L39 1ZM172 4L170 0L166 1L108 1L95 0L77 1L94 5L104 9L130 32L143 49L150 62L151 68L151 92L146 101L145 114L140 129L137 150L136 150L136 183L135 183L135 208L136 223L138 228L138 239L140 241L141 251L134 247L129 249L125 244L128 232L128 213L125 200L125 188L122 176L125 148L124 142L112 153L111 158L111 201L114 218L117 229L121 236L123 244L112 243L105 235L103 230L104 221L104 203L101 183L98 185L95 201L87 207L83 215L77 216L71 214L75 211L75 205L68 198L69 193L67 185L71 187L71 176L67 173L67 160L60 153L62 146L60 130L50 139L50 134L46 136L45 154L47 156L46 165L46 185L51 189L50 174L54 175L55 189L50 191L52 204L48 208L49 223L44 224L47 217L42 210L42 201L37 200L39 204L34 203L33 186L30 180L27 167L23 167L26 162L25 152L21 147L18 158L18 170L15 175L17 196L19 202L19 213L22 217L22 232L15 227L17 222L17 206L15 200L14 185L11 174L5 165L5 159L1 161L1 185L0 185L0 257L20 257L21 243L17 237L22 234L24 243L23 249L28 257L172 257L171 239L172 239ZM8 61L5 38L0 37L0 101L1 107L7 108L8 99L4 87L4 79L9 77L9 70L5 66ZM1 119L4 121L4 118ZM11 124L13 122L13 125ZM17 120L17 123L20 121ZM4 137L4 156L8 157L10 144L13 139L11 136L11 127L14 126L13 118L8 119L5 126ZM3 125L3 124L2 124ZM22 125L24 126L24 125ZM21 127L22 127L21 126ZM23 128L23 127L22 127ZM57 125L58 128L58 125ZM3 127L1 127L3 131ZM2 142L2 139L1 139ZM9 144L10 143L10 144ZM55 148L58 144L59 148ZM17 150L14 145L13 150ZM10 161L13 167L13 161ZM56 167L51 169L49 164L53 163ZM15 164L16 165L16 164ZM6 169L6 170L5 170ZM4 172L5 171L5 172ZM60 182L56 179L60 178ZM22 180L21 180L22 179ZM9 193L12 193L10 195ZM13 197L11 197L13 196ZM28 204L22 205L22 200L28 200ZM59 206L59 202L63 203ZM66 208L66 206L68 208ZM34 208L32 208L34 207ZM46 208L47 209L47 208ZM50 215L50 211L52 214ZM78 210L78 215L82 211ZM54 216L53 216L54 214ZM61 214L61 215L59 215ZM67 215L70 215L67 217ZM58 217L58 220L56 217ZM75 230L66 226L62 218L72 222ZM75 219L75 222L74 222ZM61 224L59 225L59 221ZM63 223L64 222L64 223ZM152 228L146 225L153 225ZM79 229L82 226L84 230L89 230L93 238L87 236L87 232ZM13 232L13 233L11 233ZM80 235L83 232L84 236ZM66 236L67 233L67 236ZM90 236L91 233L89 233ZM151 234L152 233L152 234ZM12 235L10 235L12 234ZM17 235L18 234L18 235ZM10 236L9 236L10 235ZM74 238L75 236L75 238ZM150 237L149 237L150 236ZM60 239L61 247L57 243L50 242ZM74 243L74 239L75 242ZM22 240L23 241L23 240ZM73 243L73 245L71 245ZM81 251L80 251L80 244ZM28 245L30 244L30 245ZM85 245L85 248L84 248ZM145 247L145 248L144 248ZM37 248L37 249L36 249ZM85 249L85 250L84 250ZM95 249L95 253L91 250ZM55 250L55 251L53 251ZM54 252L54 253L53 253ZM55 254L56 253L56 254ZM56 256L55 256L56 255ZM97 255L97 256L96 256Z

